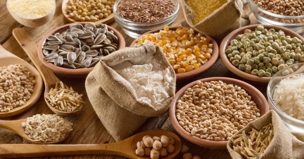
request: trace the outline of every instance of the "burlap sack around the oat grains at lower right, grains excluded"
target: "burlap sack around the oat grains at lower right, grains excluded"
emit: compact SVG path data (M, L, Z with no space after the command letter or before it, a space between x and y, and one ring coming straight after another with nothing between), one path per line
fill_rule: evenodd
M245 132L251 131L251 128L261 130L269 123L273 124L274 135L264 153L259 155L257 159L303 159L304 134L290 132L280 116L273 110L261 116L261 118L250 122L237 134L241 134L243 130ZM229 140L227 148L233 159L243 159L240 154L232 150L231 140Z

